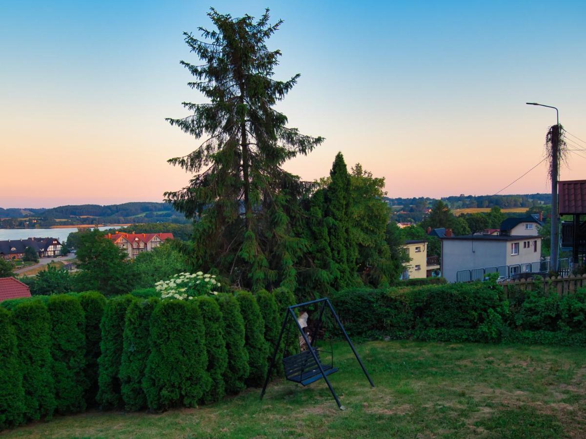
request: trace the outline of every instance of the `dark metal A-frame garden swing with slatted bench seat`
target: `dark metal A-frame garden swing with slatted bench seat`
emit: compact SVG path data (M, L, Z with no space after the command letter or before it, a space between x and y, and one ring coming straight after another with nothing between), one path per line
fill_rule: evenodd
M329 390L330 390L330 392L332 392L332 396L336 400L336 404L338 404L339 409L344 410L345 407L342 406L342 404L340 403L340 400L338 399L338 395L336 395L336 392L333 390L332 383L330 383L330 381L328 379L328 375L331 375L332 373L335 373L338 371L338 369L336 367L333 367L333 352L332 352L332 365L324 367L322 365L321 360L319 359L318 349L314 348L314 346L311 345L306 333L303 331L303 328L301 328L301 325L297 321L297 316L295 315L295 311L294 311L295 308L306 307L306 306L312 305L312 304L321 304L321 307L319 309L319 323L320 323L320 325L321 325L321 321L322 321L322 317L323 317L323 311L325 311L325 308L327 305L328 309L330 310L333 317L335 318L336 323L338 324L338 327L342 331L344 338L346 339L346 341L350 345L350 348L352 349L352 352L354 353L356 360L358 360L360 367L362 367L362 371L364 372L364 375L366 375L366 378L369 380L370 386L374 387L374 383L372 382L372 379L370 378L370 375L368 374L368 372L366 372L366 367L364 367L362 360L360 359L360 356L358 355L358 353L356 352L356 349L354 348L354 345L352 344L352 341L350 341L350 337L346 333L346 329L344 329L342 322L340 322L338 314L336 314L336 311L334 311L329 299L327 297L325 297L322 299L316 299L316 300L312 300L309 302L304 302L302 304L291 305L290 307L287 307L287 309L285 310L283 324L281 325L281 332L279 333L277 345L275 346L274 353L272 354L271 365L268 367L267 378L265 379L263 391L261 392L260 397L261 397L261 399L263 399L264 394L267 390L268 380L270 379L272 369L275 367L275 362L277 360L277 353L279 351L279 347L281 346L281 340L282 340L283 333L285 331L285 327L287 326L288 319L292 318L293 321L295 322L295 325L297 326L298 331L301 333L301 336L305 340L305 344L307 345L307 350L302 351L300 353L297 353L295 355L288 356L287 358L283 359L283 365L285 366L286 369L287 369L287 366L289 366L289 372L297 372L297 371L301 370L301 372L298 375L288 376L287 379L290 381L293 381L295 383L302 384L303 386L306 386L308 384L311 384L311 383L319 380L320 378L323 378L325 380L326 384L328 384ZM314 333L312 334L312 341L314 341L314 342L316 340L317 332L318 332L318 330L314 328ZM308 353L305 353L305 352L308 352ZM311 358L309 357L309 354L311 354ZM312 367L312 370L310 371L309 376L306 376L304 379L305 367L308 365ZM319 372L315 369L315 366L318 367Z

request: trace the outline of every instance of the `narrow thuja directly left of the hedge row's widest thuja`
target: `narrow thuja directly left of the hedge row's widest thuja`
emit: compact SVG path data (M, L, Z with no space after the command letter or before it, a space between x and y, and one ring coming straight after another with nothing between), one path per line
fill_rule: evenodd
M120 382L124 409L140 410L147 406L147 396L142 389L142 379L147 369L147 360L151 353L149 346L149 326L151 315L159 300L151 297L134 300L126 311L122 359L120 364Z

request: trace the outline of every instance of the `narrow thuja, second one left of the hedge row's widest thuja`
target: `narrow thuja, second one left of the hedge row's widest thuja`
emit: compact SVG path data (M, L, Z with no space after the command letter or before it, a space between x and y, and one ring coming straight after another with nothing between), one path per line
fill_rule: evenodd
M124 319L134 297L123 295L108 300L102 318L100 358L98 359L98 394L96 400L103 409L122 407L120 394L120 364L124 343Z

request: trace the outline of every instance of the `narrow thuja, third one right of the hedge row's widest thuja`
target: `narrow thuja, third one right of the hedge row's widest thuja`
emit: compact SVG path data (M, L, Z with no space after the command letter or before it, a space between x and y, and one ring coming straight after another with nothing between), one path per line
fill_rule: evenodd
M264 321L257 301L248 291L238 291L236 300L244 319L244 334L250 375L246 379L247 386L262 386L267 376L268 344L264 339Z

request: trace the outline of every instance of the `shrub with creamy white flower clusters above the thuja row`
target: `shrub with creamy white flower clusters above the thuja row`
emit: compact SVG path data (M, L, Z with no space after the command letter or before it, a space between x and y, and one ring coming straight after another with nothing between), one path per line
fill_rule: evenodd
M156 291L161 293L161 299L191 300L202 295L218 294L216 288L220 283L213 274L179 273L169 280L155 283Z

